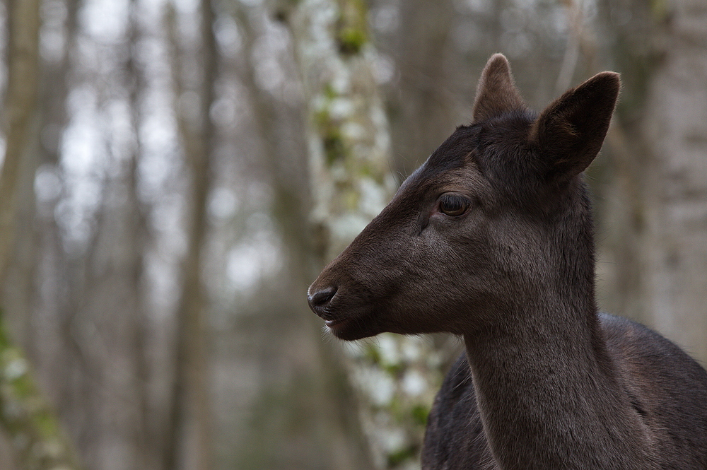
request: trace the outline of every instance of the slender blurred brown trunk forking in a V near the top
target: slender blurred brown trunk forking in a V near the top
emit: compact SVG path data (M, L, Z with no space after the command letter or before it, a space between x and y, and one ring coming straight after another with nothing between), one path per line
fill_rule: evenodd
M191 179L191 192L187 200L187 254L182 264L181 298L176 313L175 376L171 393L168 440L163 468L174 470L184 467L187 459L194 459L193 468L208 470L212 464L211 409L209 351L206 292L201 276L202 252L208 228L206 204L211 186L211 158L214 145L214 124L209 110L214 102L214 83L217 75L214 13L211 1L202 0L201 13L201 63L204 75L199 89L200 109L197 122L190 121L180 108L177 125L182 138L182 148ZM185 92L182 83L182 52L175 33L175 11L169 13L169 40L173 47L172 64L175 97ZM182 110L183 111L183 110ZM194 435L189 436L189 425ZM191 439L189 439L191 437ZM191 444L191 445L189 445ZM185 448L192 453L185 452Z

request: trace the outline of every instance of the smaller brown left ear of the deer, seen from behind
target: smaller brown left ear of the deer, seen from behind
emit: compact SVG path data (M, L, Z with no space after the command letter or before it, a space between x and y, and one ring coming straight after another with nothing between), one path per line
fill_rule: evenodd
M525 110L525 102L515 88L508 59L493 54L479 78L474 101L474 122L482 122L513 110Z

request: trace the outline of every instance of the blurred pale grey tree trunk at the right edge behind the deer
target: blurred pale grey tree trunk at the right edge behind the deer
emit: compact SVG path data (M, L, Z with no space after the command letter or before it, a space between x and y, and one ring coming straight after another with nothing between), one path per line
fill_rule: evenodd
M642 297L655 327L707 361L707 4L670 8L641 127L651 148Z

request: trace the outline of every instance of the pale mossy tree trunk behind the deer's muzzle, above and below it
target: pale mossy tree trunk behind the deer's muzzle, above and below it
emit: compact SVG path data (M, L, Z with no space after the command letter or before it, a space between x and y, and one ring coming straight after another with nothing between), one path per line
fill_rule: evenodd
M277 14L290 25L303 78L310 223L321 267L378 215L395 189L374 74L377 54L361 0L305 0L284 4ZM375 466L395 468L417 458L438 384L438 355L416 338L382 334L378 345L349 348L348 370ZM407 387L411 383L419 387Z

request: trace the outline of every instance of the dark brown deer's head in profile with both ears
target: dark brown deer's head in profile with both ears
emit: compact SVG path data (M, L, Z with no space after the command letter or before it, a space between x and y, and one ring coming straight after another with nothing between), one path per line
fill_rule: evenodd
M618 74L604 72L537 114L506 57L493 55L473 123L458 127L322 271L308 290L312 310L353 340L473 334L518 321L523 302L557 292L593 302L580 173L600 150L618 93Z

